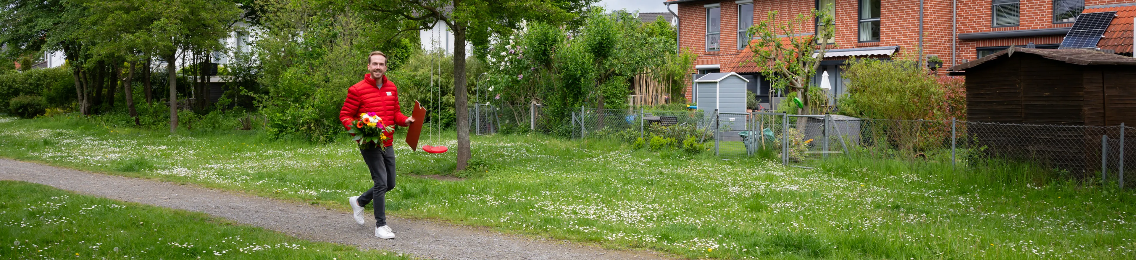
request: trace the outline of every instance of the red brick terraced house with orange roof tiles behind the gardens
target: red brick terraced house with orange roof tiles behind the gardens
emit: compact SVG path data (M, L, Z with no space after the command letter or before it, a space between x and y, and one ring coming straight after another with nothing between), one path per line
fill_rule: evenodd
M891 54L922 47L925 56L938 57L943 67L951 67L1010 45L1033 43L1039 49L1056 49L1081 11L1117 11L1097 47L1131 56L1133 17L1136 17L1136 0L669 0L663 3L677 12L678 48L698 54L693 69L698 74L734 72L751 78L747 89L762 103L769 102L769 84L761 78L760 68L741 64L750 59L744 44L747 39L742 32L771 10L778 11L778 22L787 22L813 8L833 7L828 11L836 18L837 47L825 54L813 78L817 84L819 75L828 72L833 86L829 97L844 93L841 72L849 58L888 59ZM803 26L815 27L815 24ZM686 93L691 100L692 91Z

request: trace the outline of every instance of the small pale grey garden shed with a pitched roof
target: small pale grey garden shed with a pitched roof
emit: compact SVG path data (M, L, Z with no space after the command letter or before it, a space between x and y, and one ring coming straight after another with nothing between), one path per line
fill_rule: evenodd
M694 79L695 102L699 109L712 118L715 109L718 112L745 114L745 79L737 73L711 73ZM745 129L744 115L721 115L725 126L729 124L735 131Z

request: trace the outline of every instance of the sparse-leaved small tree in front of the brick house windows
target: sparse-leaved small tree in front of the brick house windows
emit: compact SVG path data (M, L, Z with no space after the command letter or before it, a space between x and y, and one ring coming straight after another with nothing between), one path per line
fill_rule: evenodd
M832 6L826 7L829 10L832 8ZM809 26L813 24L819 26ZM835 19L828 11L813 9L784 22L777 20L776 10L769 11L765 20L749 30L754 41L749 45L753 59L747 62L763 66L761 74L769 78L774 89L811 93L809 81L820 68L825 52L836 48L833 43L818 44L818 42L830 42L835 31ZM805 103L803 110L815 112L810 109L812 106L809 106L810 94L801 97Z

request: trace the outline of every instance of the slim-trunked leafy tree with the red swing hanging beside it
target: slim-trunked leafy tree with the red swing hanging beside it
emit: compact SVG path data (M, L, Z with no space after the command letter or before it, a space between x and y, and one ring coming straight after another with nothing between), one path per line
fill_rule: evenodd
M473 157L469 146L469 93L466 81L466 44L487 45L493 34L512 34L523 20L563 23L582 12L594 0L377 0L364 8L378 11L379 19L392 19L400 32L434 28L444 24L453 33L453 97L457 114L458 166L466 169ZM406 23L402 23L406 22Z

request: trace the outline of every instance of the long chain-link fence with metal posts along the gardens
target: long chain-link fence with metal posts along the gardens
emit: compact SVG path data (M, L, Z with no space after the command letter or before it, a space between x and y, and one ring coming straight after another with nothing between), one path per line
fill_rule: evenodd
M478 110L481 109L481 110ZM648 111L644 109L571 109L574 139L613 139L651 149L713 152L724 159L772 159L812 168L835 158L938 161L958 170L1028 163L1072 177L1095 177L1125 185L1125 171L1136 169L1136 128L1001 124L961 120L887 120L841 115L777 112ZM495 133L501 109L477 106L478 134ZM541 126L543 107L529 104L524 119ZM471 119L473 120L473 119ZM496 124L496 125L493 125ZM642 139L642 141L640 141ZM1130 174L1129 174L1130 175ZM1128 186L1134 183L1128 177Z

